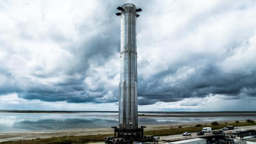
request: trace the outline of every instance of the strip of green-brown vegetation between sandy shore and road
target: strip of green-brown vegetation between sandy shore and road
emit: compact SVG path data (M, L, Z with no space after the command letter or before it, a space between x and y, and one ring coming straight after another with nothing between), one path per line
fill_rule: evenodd
M253 121L254 122L254 121ZM215 124L216 122L214 122ZM218 123L218 122L217 122ZM182 134L183 132L198 132L201 131L203 127L212 127L212 130L218 130L226 126L253 126L256 123L252 121L239 122L239 123L227 123L218 125L204 125L200 127L190 126L184 128L168 128L161 130L147 130L145 135L152 136L169 136L174 134ZM181 127L181 126L180 126ZM0 142L0 144L86 144L90 142L100 142L104 140L105 136L113 136L113 134L98 134L98 135L88 135L88 136L63 136L63 137L53 137L53 138L38 138L35 140L23 140L15 142Z

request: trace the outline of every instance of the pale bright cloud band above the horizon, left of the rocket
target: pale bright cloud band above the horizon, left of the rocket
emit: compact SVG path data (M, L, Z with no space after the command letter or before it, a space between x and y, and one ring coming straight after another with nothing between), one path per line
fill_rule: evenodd
M43 102L40 100L25 100L19 98L17 93L0 95L0 110L98 110L98 111L116 111L117 103L68 103L61 102Z

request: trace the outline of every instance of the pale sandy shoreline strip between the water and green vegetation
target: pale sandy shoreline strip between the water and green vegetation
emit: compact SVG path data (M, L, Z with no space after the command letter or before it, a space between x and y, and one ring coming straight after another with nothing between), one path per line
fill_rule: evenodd
M243 120L245 121L245 120ZM235 121L222 121L235 122ZM242 120L240 121L242 122ZM146 125L145 130L157 130L165 128L176 128L178 126L188 127L195 126L198 123L186 123L186 124L162 124L162 125ZM210 124L210 122L200 122L200 124ZM0 132L0 142L10 140L28 140L36 138L50 138L60 136L83 136L93 134L110 134L113 132L112 128L76 128L66 130L54 130L54 131L23 131L23 132Z

